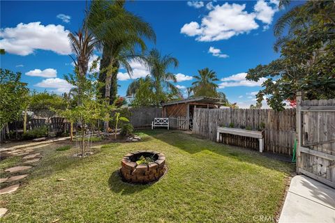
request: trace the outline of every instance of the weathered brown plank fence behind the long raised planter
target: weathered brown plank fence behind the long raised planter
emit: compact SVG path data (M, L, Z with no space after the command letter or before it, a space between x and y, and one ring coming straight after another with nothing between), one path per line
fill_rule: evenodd
M195 109L193 133L215 141L218 125L258 130L264 123L264 151L292 155L295 121L295 109L285 109L283 112L272 109ZM259 146L257 139L231 134L223 134L223 141L255 150Z

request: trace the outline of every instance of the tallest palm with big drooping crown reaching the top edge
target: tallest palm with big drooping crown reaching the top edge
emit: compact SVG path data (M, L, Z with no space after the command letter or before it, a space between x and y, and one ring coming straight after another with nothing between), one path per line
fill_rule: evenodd
M142 53L146 45L142 38L156 41L154 30L142 20L124 9L124 1L93 1L87 15L88 25L103 49L99 79L105 82L102 94L112 104L117 98L117 73L120 66L128 75L133 70L130 61L144 63Z

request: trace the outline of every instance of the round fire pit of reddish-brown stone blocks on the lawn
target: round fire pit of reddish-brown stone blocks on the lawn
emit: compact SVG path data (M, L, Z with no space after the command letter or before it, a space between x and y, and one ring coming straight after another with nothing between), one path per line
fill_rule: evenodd
M154 162L137 164L140 157L151 157ZM149 183L158 180L165 173L165 155L156 151L128 153L121 161L121 176L128 183Z

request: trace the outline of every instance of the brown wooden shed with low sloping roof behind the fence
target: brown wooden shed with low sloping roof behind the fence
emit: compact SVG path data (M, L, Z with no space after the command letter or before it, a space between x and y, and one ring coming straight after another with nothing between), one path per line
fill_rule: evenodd
M220 101L220 98L196 97L165 102L162 104L163 117L170 118L170 128L192 130L194 109L217 109L221 105Z

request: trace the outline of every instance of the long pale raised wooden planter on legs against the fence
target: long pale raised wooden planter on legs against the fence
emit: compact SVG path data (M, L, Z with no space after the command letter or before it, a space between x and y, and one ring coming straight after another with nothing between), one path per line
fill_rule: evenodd
M251 137L256 138L260 141L260 153L262 153L264 148L264 139L263 139L263 132L260 131L253 131L253 130L242 130L239 128L226 128L226 127L218 127L217 134L216 134L216 141L220 141L220 134L235 134L242 137Z

